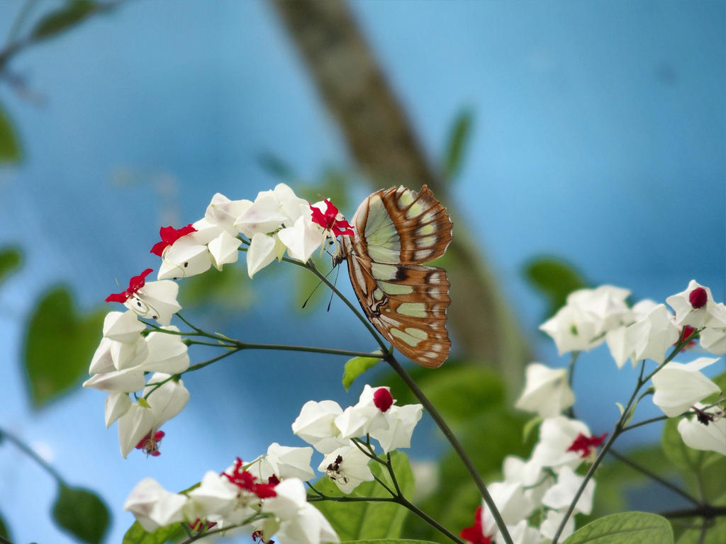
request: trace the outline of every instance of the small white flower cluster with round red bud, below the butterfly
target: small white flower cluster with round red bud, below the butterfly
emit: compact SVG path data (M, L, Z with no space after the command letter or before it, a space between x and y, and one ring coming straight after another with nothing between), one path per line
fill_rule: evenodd
M421 419L420 404L394 404L388 387L366 385L358 403L345 410L333 400L310 400L293 423L293 432L325 458L318 467L343 493L361 482L370 482L370 457L351 439L369 436L378 440L383 453L409 448L413 429Z

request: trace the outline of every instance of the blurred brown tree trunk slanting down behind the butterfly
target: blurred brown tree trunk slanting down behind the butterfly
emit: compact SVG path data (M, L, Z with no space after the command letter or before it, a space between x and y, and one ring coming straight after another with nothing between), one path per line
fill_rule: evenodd
M403 184L417 190L428 184L445 203L454 223L447 251L454 350L497 368L516 387L531 360L526 339L348 5L341 0L270 1L372 186Z

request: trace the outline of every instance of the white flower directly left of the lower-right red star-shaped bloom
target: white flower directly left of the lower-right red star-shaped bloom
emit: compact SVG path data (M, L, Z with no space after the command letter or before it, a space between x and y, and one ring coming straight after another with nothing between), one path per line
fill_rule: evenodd
M576 451L568 451L579 434L590 437L590 429L582 421L557 416L542 421L539 426L539 442L534 447L531 460L539 466L568 465L576 467L582 458Z

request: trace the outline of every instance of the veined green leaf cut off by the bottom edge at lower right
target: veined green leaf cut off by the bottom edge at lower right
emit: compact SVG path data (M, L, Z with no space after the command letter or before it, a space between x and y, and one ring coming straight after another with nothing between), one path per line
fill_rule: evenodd
M595 519L563 544L672 544L668 520L647 512L624 512Z

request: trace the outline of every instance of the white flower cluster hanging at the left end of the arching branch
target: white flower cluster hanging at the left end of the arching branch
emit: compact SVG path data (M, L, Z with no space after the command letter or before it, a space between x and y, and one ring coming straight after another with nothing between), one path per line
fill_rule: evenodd
M143 300L144 294L136 292L131 298ZM179 333L179 329L162 326L144 336L145 329L132 310L108 313L103 338L91 360L92 376L83 383L83 387L108 393L106 426L118 420L123 457L134 447L158 455L158 441L163 437L159 427L176 416L189 400L184 383L173 378L189 368L187 345L178 334L169 334ZM142 392L134 403L129 394L139 390Z

